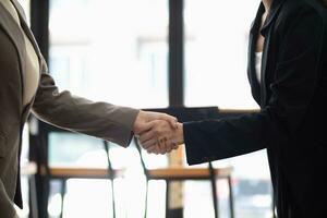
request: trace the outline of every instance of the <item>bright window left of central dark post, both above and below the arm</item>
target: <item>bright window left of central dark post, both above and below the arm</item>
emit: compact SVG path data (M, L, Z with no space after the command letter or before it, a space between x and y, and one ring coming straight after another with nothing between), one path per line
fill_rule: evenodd
M168 107L167 0L51 0L49 31L49 69L61 90L114 105ZM116 182L118 217L141 218L145 180L137 152L133 145L111 146L113 167L131 170ZM148 160L150 167L167 166L165 156ZM49 135L49 161L50 166L107 167L100 140L71 133ZM110 217L108 181L69 180L66 191L65 218ZM48 213L57 217L62 201L58 181L51 182L50 192ZM150 192L149 217L164 215L165 185L154 182Z

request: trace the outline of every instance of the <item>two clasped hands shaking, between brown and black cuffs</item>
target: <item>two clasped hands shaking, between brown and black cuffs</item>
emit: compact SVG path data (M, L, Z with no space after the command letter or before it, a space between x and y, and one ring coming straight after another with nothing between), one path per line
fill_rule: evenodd
M140 111L133 131L141 146L150 154L167 154L184 143L183 124L159 112Z

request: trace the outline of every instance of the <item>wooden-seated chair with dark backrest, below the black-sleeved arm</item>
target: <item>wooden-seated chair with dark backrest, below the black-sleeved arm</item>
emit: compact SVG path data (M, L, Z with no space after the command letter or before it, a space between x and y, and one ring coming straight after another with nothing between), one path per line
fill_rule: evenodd
M245 111L220 111L218 107L198 107L198 108L184 108L184 107L171 107L171 108L164 108L164 109L144 109L149 111L157 111L157 112L165 112L178 118L180 122L187 122L187 121L198 121L205 119L215 119L219 117L230 117L230 116L239 116ZM219 178L226 178L229 184L230 197L229 197L229 206L230 206L230 217L234 217L234 209L233 209L233 194L232 194L232 184L231 184L231 168L223 168L223 169L214 169L211 162L208 162L208 168L202 169L157 169L157 170L147 170L146 165L144 162L143 154L140 148L137 140L134 140L136 148L140 153L142 167L144 170L144 174L146 175L147 183L149 180L153 179L162 179L167 183L167 192L166 192L166 215L168 214L168 199L169 199L169 183L171 181L185 181L185 180L207 180L211 183L213 190L213 204L215 209L215 217L218 218L218 198L217 198L217 186L216 180ZM158 177L159 173L161 177ZM178 175L180 173L180 175ZM146 187L147 189L147 187ZM146 191L147 192L147 191ZM146 203L147 203L147 193L146 193ZM146 204L147 205L147 204ZM145 208L145 217L146 217L147 208Z

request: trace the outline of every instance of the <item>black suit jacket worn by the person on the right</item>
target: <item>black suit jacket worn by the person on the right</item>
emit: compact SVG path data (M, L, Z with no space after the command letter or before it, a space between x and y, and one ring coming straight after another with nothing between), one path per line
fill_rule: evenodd
M279 218L327 217L327 10L323 0L274 0L250 33L249 80L261 111L184 123L190 165L267 148ZM256 81L257 34L265 37Z

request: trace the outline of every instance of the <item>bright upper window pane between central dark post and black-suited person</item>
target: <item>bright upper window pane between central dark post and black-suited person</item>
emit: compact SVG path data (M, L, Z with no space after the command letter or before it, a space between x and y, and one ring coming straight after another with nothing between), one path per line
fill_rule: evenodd
M258 0L185 0L185 104L258 108L246 77L247 36Z

